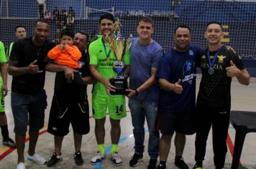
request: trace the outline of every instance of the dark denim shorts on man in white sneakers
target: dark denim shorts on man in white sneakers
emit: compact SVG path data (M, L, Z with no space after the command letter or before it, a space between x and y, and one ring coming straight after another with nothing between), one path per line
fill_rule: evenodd
M11 106L14 115L14 132L20 135L26 134L27 124L29 124L30 131L40 130L44 126L45 105L45 91L31 95L12 92Z

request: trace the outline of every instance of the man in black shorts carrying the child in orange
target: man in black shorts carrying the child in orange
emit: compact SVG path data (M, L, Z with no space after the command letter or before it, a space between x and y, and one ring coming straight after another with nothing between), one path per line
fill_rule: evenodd
M88 35L85 32L76 32L74 37L74 45L76 45L82 53L82 57L79 60L78 71L81 73L81 77L84 82L84 92L86 95L86 98L84 98L84 102L86 103L86 107L82 107L81 105L79 105L79 102L77 100L76 87L73 87L72 84L65 84L66 93L64 99L68 100L68 110L67 112L65 112L65 114L59 116L58 102L55 99L55 95L53 95L47 132L50 132L52 135L54 135L55 152L53 153L50 160L47 162L48 167L52 167L63 159L61 157L61 148L63 138L69 132L68 127L70 123L73 127L73 137L75 142L75 162L76 165L83 165L83 158L81 155L82 135L86 135L90 130L86 87L87 84L92 84L93 82L95 82L91 77L91 73L88 69L89 57L86 49L87 40ZM46 69L50 72L56 72L55 82L58 80L58 72L65 72L65 78L73 79L73 72L76 71L70 67L66 67L65 65L58 65L52 62L47 64ZM58 86L55 86L55 89L56 87Z

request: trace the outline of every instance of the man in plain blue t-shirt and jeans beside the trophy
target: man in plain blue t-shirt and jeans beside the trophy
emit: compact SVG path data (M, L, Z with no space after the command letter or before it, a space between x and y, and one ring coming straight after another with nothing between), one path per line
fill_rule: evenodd
M147 151L150 155L148 169L155 169L158 157L159 130L155 128L159 87L155 73L163 56L163 49L152 39L154 24L150 17L142 16L137 22L138 38L132 40L131 69L129 77L129 108L132 115L134 155L131 167L139 165L144 153L145 119L150 133Z

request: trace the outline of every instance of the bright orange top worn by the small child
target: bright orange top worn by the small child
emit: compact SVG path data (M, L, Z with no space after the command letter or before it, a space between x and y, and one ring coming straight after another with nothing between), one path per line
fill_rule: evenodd
M66 65L73 69L79 67L78 60L82 57L81 52L76 46L65 46L65 50L61 50L58 46L52 48L48 52L48 57L53 59L55 64Z

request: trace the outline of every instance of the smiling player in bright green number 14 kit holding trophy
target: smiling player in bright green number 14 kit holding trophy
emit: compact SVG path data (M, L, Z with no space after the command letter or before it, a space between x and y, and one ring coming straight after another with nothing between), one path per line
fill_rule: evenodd
M93 118L95 119L95 135L99 151L91 159L91 164L96 165L105 159L104 137L106 110L109 109L109 120L111 124L111 161L114 165L122 165L122 159L117 153L119 138L121 135L120 121L127 116L124 95L110 95L116 87L111 85L109 80L116 77L113 64L117 61L114 49L111 49L106 42L114 38L114 16L104 14L99 19L101 37L91 42L89 46L90 70L97 80L93 86L92 107ZM106 39L109 37L109 39ZM129 54L124 54L123 59L126 71L129 69Z

